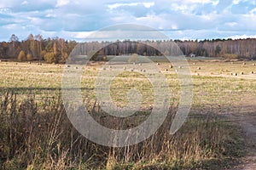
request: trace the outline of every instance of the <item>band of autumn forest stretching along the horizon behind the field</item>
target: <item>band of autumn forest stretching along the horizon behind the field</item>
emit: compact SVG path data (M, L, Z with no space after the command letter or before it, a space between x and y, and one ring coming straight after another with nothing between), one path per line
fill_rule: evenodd
M157 44L166 48L170 41L147 41L147 44ZM212 39L203 41L174 40L177 46L186 56L224 57L227 59L256 59L256 39ZM41 35L30 34L26 40L20 41L13 34L9 42L0 42L0 59L12 59L19 61L42 60L47 63L64 63L73 48L78 44L75 41L67 41L63 38L53 37L44 39ZM97 47L105 46L98 53L101 55L141 54L148 56L160 56L160 52L140 42L86 42L84 47L88 53ZM99 59L95 57L94 59Z

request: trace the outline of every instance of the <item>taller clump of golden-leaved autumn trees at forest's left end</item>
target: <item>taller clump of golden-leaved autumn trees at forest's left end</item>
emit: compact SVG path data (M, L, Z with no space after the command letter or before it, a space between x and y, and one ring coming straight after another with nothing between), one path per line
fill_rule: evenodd
M53 37L44 39L42 35L30 34L26 40L19 41L13 34L9 42L0 42L0 59L44 60L47 63L65 62L77 45L75 41Z

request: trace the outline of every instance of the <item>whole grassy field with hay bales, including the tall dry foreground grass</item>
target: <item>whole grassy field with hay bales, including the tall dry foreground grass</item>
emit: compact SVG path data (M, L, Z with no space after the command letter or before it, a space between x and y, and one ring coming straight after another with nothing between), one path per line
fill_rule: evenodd
M142 105L125 119L108 116L96 100L95 83L104 62L90 62L82 71L82 97L97 122L113 129L136 127L154 104L152 84L138 64L122 68L113 79L114 105L125 107L126 94L137 88ZM179 104L176 68L160 60L172 94L166 121L145 141L125 147L96 144L80 135L61 102L67 65L0 62L0 167L3 169L233 169L255 162L256 62L189 59L193 103L187 121L175 134L169 129ZM147 65L147 64L143 64ZM78 70L79 65L68 65ZM183 65L180 65L183 69ZM138 71L138 72L137 72ZM146 69L145 72L148 70ZM140 73L141 72L141 73ZM108 77L107 77L108 78ZM134 105L136 107L136 105ZM249 150L249 151L248 151ZM254 154L254 155L253 155Z

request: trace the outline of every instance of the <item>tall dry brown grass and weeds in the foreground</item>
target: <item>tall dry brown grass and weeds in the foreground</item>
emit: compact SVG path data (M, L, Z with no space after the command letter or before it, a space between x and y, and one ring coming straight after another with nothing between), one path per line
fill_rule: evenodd
M96 107L91 105L90 112L101 122L99 115L104 113ZM171 135L169 129L175 111L170 109L166 122L149 139L113 148L90 142L74 129L61 95L37 101L32 92L22 100L15 93L7 92L1 100L0 168L181 169L223 156L230 131L215 116L191 119ZM107 116L107 120L110 118ZM108 122L106 118L102 120L109 127L132 126L119 120L109 122L111 125Z

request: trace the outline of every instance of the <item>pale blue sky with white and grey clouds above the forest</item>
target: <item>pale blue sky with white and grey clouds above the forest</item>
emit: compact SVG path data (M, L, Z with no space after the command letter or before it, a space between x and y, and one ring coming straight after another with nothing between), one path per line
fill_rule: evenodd
M0 0L0 41L31 33L83 41L125 23L170 39L256 37L256 0Z

